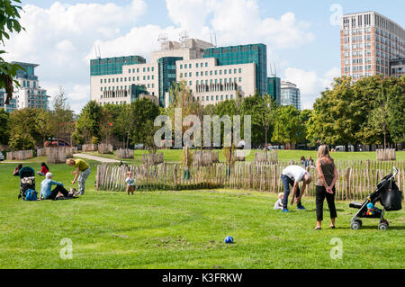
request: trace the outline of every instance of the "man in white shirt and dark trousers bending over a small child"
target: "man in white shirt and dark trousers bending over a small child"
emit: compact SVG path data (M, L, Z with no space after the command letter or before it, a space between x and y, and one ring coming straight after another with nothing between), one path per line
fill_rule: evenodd
M311 183L311 175L302 166L287 166L282 173L284 184L284 199L283 212L288 212L288 196L290 195L290 185L293 186L293 194L296 196L297 209L305 210L302 205L301 198L308 184ZM299 183L302 181L302 189L300 190Z

